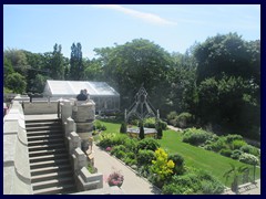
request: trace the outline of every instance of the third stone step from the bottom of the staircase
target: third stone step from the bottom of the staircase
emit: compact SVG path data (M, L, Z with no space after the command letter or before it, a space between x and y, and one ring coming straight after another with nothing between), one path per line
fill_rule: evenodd
M71 169L69 170L59 170L59 171L53 171L53 172L48 172L48 174L41 174L38 176L31 177L31 182L40 182L40 181L45 181L45 180L52 180L57 178L62 178L62 177L70 177L73 178L73 172Z

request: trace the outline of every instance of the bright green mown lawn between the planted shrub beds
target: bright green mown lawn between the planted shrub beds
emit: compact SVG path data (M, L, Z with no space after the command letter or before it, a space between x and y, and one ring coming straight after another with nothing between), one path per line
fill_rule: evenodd
M120 124L112 122L101 121L106 126L106 132L109 133L119 133ZM224 157L219 154L205 150L200 147L192 146L190 144L183 143L181 133L174 130L164 130L163 138L158 139L162 148L164 148L168 154L180 154L185 159L186 166L193 166L195 168L204 169L211 172L213 176L218 178L222 182L225 182L223 175L225 171L231 169L229 164L234 164L236 167L245 165L232 158ZM253 168L253 166L249 166ZM253 169L252 169L253 171ZM253 172L250 174L253 176ZM260 169L256 169L256 179L260 178ZM231 180L228 180L228 186Z

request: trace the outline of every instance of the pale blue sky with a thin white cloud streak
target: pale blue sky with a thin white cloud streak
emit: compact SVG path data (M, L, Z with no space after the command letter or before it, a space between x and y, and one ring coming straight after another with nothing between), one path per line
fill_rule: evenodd
M53 51L70 57L73 42L83 57L93 49L147 39L167 52L184 53L217 33L260 40L259 4L4 4L3 50Z

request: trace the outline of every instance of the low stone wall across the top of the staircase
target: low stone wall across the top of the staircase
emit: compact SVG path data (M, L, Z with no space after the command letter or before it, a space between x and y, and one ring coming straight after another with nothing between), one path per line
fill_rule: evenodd
M23 102L24 115L58 114L58 102Z

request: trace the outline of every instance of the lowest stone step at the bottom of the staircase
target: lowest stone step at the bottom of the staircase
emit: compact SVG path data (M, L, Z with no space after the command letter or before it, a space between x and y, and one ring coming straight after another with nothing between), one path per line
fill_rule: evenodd
M72 192L76 192L75 186L72 184L66 184L61 187L50 187L45 189L33 190L33 195L58 195Z

